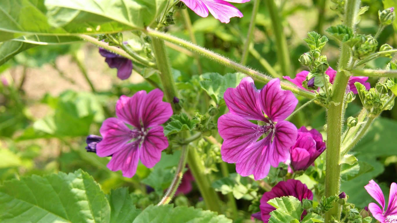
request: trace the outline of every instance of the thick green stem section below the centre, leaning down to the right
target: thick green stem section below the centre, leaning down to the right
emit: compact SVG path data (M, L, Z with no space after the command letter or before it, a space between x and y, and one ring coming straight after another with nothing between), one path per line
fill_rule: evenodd
M200 190L201 196L204 198L207 208L211 211L222 213L218 194L216 194L214 188L211 187L210 178L205 174L205 167L194 147L189 148L187 163L193 177L196 179L198 189Z

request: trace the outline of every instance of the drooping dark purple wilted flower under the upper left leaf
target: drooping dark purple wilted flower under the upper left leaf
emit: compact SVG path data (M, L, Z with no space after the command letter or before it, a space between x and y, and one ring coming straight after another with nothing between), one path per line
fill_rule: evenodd
M131 76L132 61L122 57L118 54L112 53L104 48L99 48L99 53L105 57L105 62L108 63L110 68L117 68L117 77L125 80Z

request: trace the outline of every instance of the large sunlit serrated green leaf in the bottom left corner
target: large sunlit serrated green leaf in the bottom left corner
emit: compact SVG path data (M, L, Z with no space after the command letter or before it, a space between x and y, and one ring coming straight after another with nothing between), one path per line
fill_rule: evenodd
M109 222L104 192L88 173L33 175L4 181L0 186L0 221Z

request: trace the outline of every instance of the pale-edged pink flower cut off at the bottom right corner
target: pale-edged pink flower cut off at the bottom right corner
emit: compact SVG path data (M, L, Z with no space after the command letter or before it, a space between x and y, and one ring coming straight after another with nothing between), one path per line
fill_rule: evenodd
M385 197L379 185L374 180L370 180L369 184L364 186L368 194L370 194L382 206L382 210L375 203L370 203L368 209L374 218L380 223L397 223L397 184L391 183L389 204L385 210Z

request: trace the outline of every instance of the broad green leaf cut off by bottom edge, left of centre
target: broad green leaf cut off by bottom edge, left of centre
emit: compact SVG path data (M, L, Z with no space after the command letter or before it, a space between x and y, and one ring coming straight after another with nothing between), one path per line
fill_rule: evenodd
M231 223L225 215L218 215L216 212L203 211L193 207L178 206L172 204L154 206L150 205L133 223Z

